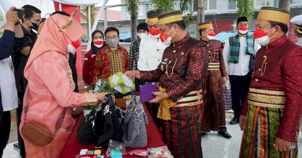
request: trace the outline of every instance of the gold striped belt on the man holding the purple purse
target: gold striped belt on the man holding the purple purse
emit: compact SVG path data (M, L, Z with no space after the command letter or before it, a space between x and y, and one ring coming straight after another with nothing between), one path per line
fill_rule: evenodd
M194 106L203 103L202 90L192 91L179 99L173 107Z

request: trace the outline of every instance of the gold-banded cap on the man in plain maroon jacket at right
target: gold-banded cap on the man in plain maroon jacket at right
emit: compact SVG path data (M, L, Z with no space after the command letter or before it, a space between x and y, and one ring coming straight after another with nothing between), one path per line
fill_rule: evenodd
M262 7L257 20L268 20L288 25L290 14L288 11L275 7Z

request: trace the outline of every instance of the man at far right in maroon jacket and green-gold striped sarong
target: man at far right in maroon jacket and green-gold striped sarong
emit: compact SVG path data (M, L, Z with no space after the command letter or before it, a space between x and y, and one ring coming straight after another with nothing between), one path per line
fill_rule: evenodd
M258 50L248 97L240 116L239 157L297 157L302 113L302 47L292 43L289 12L262 7L256 21Z

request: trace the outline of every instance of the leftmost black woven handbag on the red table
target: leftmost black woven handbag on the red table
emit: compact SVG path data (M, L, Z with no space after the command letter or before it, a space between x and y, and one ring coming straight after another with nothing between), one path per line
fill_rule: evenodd
M96 138L94 132L95 120L96 120L96 109L93 109L87 114L78 127L78 141L82 144L89 144Z

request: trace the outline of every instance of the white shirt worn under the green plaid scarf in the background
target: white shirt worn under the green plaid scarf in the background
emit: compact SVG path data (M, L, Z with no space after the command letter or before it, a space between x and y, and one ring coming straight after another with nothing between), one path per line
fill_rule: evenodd
M225 41L224 48L223 48L223 59L225 70L228 75L236 75L236 76L244 76L250 72L249 69L249 62L250 62L250 55L246 54L246 47L247 47L247 38L246 37L239 37L240 40L240 51L239 51L239 60L238 63L229 63L230 58L230 43L229 39ZM256 52L261 48L255 41L254 43L254 55Z

